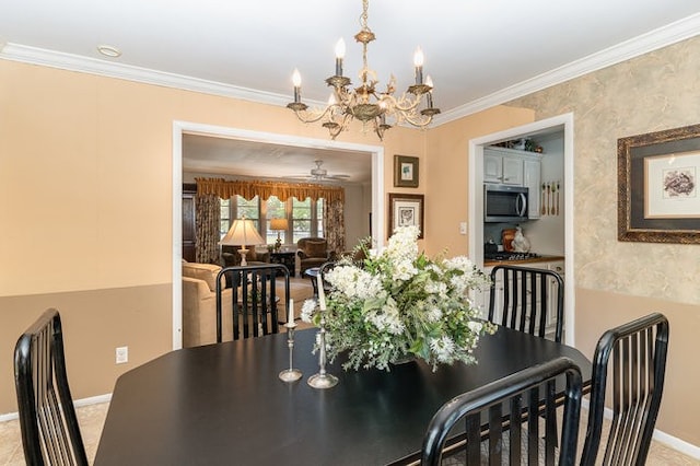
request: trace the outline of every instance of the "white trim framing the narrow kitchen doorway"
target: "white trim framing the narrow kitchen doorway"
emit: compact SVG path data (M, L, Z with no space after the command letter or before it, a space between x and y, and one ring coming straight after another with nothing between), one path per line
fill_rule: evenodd
M469 199L471 213L469 225L469 257L479 267L483 266L483 147L494 142L532 136L537 132L562 130L564 140L564 342L574 346L575 317L575 277L574 277L574 210L573 210L573 113L541 119L527 125L509 128L503 131L482 136L469 141ZM468 156L468 155L467 155Z

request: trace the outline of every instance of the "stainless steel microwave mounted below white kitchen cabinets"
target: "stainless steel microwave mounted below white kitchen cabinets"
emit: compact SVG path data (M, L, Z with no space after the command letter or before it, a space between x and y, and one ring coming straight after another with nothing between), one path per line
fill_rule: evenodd
M524 186L483 184L483 221L520 222L527 220L528 191Z

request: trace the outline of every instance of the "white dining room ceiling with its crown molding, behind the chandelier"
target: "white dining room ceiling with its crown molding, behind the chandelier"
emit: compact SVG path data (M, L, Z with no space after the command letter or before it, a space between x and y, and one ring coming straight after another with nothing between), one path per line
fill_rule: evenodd
M0 0L0 58L278 105L299 68L303 97L323 102L341 36L357 82L361 10L360 0ZM392 73L405 89L420 46L440 124L695 36L699 11L698 0L372 0L369 65L380 89ZM105 58L101 44L122 55Z

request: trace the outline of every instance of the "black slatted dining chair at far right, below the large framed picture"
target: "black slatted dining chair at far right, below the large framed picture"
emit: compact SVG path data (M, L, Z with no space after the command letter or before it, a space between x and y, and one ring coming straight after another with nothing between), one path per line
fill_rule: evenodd
M668 351L668 321L653 313L607 330L593 358L588 426L581 464L643 465L661 406ZM603 461L596 461L603 434L608 376L612 419L606 428ZM610 400L608 400L609 403Z

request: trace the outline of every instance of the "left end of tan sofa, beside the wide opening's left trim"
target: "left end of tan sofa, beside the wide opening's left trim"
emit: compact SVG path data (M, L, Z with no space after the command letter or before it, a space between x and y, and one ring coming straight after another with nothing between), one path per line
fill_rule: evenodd
M183 347L217 342L217 275L220 266L183 263ZM232 290L222 292L223 308L231 308ZM228 324L228 325L226 325ZM231 319L224 319L223 339L230 340Z

